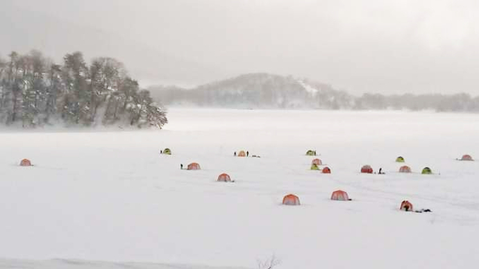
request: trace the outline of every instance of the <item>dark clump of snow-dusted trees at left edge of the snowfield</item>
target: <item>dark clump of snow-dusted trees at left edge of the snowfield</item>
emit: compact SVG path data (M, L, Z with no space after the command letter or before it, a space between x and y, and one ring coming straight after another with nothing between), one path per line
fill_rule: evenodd
M113 58L94 58L88 65L77 51L56 64L40 51L13 51L0 58L0 121L24 128L57 123L161 128L167 117Z

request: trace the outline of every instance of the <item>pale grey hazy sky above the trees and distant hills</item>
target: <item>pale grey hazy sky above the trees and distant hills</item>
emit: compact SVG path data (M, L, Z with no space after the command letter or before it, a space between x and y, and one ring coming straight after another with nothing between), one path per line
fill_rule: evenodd
M146 59L140 68L129 59L141 52L115 52L144 81L194 84L264 71L308 77L351 93L479 94L479 1L3 0L2 5L41 14L40 22L54 18L84 28L78 50L84 45L96 53L95 46L83 44L89 42L88 29L95 29L168 59ZM33 29L42 27L56 26L35 21ZM118 43L123 42L109 46ZM0 48L8 49L6 44ZM59 55L70 49L42 44L28 39L28 47Z

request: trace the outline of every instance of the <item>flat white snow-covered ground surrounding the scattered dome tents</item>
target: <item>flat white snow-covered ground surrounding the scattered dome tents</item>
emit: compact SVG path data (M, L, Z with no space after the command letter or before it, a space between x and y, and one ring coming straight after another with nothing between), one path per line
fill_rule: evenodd
M479 114L171 109L169 121L3 130L0 268L479 266L479 162L455 160L479 159ZM330 175L310 171L309 149ZM414 173L397 173L399 155ZM180 170L190 162L202 170ZM224 172L235 182L216 182ZM337 189L353 200L330 200ZM301 206L281 205L288 193Z

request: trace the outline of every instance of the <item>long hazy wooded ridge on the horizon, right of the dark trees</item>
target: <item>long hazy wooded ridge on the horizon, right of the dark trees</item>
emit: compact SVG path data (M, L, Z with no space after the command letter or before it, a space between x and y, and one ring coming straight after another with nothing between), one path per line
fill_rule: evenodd
M271 73L246 73L192 89L149 87L163 105L325 110L436 110L479 112L479 96L469 94L363 94L353 96L325 83Z

